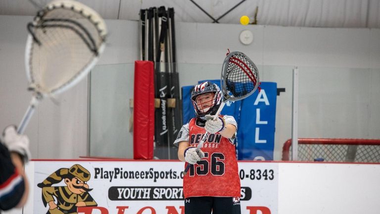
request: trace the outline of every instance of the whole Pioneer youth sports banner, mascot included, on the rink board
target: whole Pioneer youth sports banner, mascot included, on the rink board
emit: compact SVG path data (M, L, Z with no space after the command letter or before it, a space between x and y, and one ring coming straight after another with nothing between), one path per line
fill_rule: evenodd
M276 214L278 163L238 164L241 213ZM34 161L33 213L184 214L183 169L180 161Z

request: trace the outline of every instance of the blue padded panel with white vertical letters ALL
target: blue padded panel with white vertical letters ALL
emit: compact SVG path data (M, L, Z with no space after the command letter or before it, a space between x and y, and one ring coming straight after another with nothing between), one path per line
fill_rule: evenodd
M241 101L238 122L238 160L273 160L277 83L261 82L261 91Z

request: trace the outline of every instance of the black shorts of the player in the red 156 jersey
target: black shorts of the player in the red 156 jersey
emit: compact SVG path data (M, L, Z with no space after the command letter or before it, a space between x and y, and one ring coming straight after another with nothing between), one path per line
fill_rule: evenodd
M234 200L235 199L235 200ZM233 197L189 197L185 214L241 214L240 200Z

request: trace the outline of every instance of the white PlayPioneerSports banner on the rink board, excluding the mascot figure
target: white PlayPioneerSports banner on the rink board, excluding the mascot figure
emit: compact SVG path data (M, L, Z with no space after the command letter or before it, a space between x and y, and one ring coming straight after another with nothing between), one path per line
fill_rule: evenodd
M42 188L37 186L53 172L80 164L91 178L89 194L97 207L79 208L86 214L183 214L184 163L180 161L33 161L33 213L46 213ZM189 175L187 175L189 176ZM277 213L278 163L239 163L241 210L243 214L261 210ZM221 185L228 185L221 184ZM52 186L67 186L64 181ZM194 187L196 188L196 187ZM55 197L54 197L55 198ZM267 211L267 212L266 212Z

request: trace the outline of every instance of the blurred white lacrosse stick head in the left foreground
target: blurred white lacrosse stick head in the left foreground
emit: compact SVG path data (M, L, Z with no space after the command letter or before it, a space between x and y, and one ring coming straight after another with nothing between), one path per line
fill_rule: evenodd
M29 89L58 94L85 77L103 52L104 20L74 0L53 0L27 25L25 50Z

